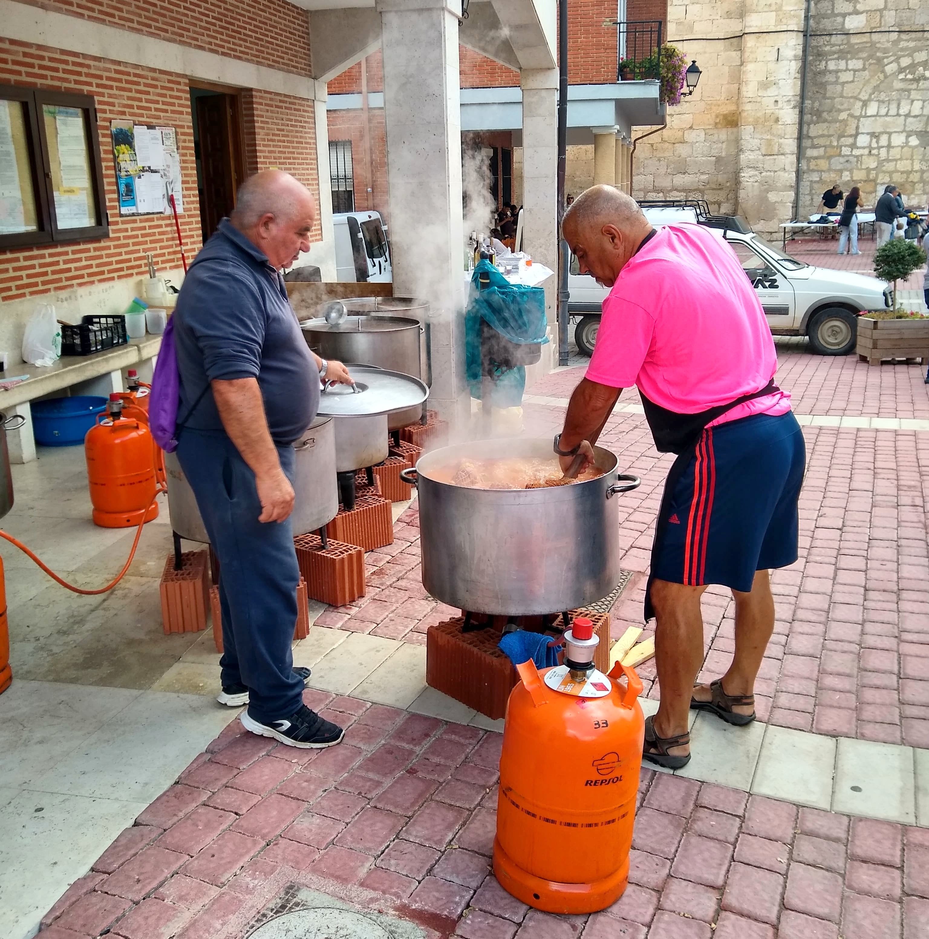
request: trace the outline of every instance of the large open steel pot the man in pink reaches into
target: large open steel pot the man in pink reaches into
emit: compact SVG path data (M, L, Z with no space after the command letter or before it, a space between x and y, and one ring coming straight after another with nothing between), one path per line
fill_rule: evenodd
M473 613L538 615L583 607L619 582L619 516L612 497L639 485L595 447L604 475L542 489L471 489L443 482L464 458L550 457L550 439L442 447L407 470L419 493L423 586ZM415 479L414 479L415 477Z

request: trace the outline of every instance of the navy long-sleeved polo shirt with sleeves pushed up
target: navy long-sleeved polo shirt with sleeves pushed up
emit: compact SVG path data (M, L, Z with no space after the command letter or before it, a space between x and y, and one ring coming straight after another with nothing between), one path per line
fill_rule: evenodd
M171 318L180 374L178 424L223 429L212 392L196 404L214 378L258 379L275 443L293 443L316 417L319 373L284 281L228 219L194 259Z

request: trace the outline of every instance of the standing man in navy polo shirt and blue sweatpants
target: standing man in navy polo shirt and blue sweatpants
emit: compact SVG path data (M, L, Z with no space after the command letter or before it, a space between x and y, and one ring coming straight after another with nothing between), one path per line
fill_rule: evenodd
M288 747L332 747L342 728L303 703L295 669L300 570L289 520L294 441L316 417L321 378L351 384L310 351L281 277L310 249L312 194L266 170L197 254L178 296L178 460L220 563L223 693L246 730Z

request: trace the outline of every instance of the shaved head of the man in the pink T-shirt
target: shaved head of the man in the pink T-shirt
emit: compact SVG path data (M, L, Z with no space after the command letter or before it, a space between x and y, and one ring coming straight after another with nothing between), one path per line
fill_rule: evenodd
M562 221L581 273L604 286L616 282L651 227L635 199L612 186L581 192Z

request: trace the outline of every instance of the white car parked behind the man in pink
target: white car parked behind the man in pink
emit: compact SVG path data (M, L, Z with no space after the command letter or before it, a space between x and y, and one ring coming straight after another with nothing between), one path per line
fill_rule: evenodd
M866 310L890 309L893 292L876 277L845 270L814 268L769 244L735 216L714 216L704 203L643 204L649 222L706 225L735 252L758 293L767 325L776 336L809 336L822 355L847 355L858 341L858 317ZM578 349L592 355L601 304L609 294L571 255L568 314L581 316L574 332Z

